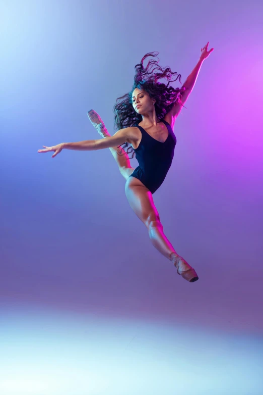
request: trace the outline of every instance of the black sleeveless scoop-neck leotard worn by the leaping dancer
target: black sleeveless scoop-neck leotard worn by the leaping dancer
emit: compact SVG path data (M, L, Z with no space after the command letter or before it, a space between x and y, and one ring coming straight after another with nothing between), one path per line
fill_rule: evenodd
M161 122L166 125L169 133L165 142L156 140L142 126L137 125L142 133L142 140L135 149L139 166L130 175L138 178L152 193L162 185L171 167L176 144L176 137L169 123L163 119Z

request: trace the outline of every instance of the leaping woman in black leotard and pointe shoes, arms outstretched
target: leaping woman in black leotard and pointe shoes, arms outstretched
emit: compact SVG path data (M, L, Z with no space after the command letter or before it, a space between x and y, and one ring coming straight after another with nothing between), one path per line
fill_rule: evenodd
M171 166L176 137L173 133L175 119L193 89L200 68L214 48L208 51L209 42L201 48L198 63L187 77L181 88L169 86L181 75L158 65L151 60L144 67L144 60L156 57L158 53L148 53L141 63L135 66L136 74L133 89L119 97L114 106L115 126L118 131L111 136L101 118L94 111L88 113L90 120L104 137L98 140L60 143L47 147L39 153L54 152L52 158L62 149L101 150L109 148L116 160L120 172L126 179L125 194L131 209L145 224L149 237L155 248L169 259L176 267L177 273L185 280L198 280L195 270L173 248L163 232L160 216L153 202L152 194L161 186ZM175 80L172 77L177 75ZM169 82L158 82L159 79ZM123 145L123 148L121 148ZM131 168L127 153L136 154L139 166Z

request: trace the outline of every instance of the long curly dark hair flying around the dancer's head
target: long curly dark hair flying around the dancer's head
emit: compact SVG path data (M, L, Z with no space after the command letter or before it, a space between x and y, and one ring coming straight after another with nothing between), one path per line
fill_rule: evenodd
M114 111L114 130L123 129L130 126L137 126L142 121L142 115L135 112L133 108L132 95L136 88L145 90L150 97L155 98L155 112L159 119L162 119L167 114L175 103L181 103L181 93L185 90L185 87L173 88L169 86L170 82L174 82L179 78L181 83L181 74L172 72L170 67L162 68L158 65L158 60L149 60L146 67L143 62L149 56L157 57L159 52L149 52L146 54L141 63L135 66L135 77L133 88L125 93L123 96L117 98L117 103L113 107ZM175 79L172 77L177 75ZM164 78L168 81L167 85L158 82L159 79ZM127 142L121 144L123 149L127 147L127 154L135 151L133 147ZM119 145L120 147L120 145ZM130 159L131 159L130 158Z

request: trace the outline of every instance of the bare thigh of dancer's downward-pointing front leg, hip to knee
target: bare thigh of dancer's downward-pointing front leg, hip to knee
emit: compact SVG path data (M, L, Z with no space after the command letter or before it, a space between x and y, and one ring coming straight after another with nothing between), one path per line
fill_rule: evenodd
M153 195L140 180L129 177L125 184L125 194L131 209L146 226L151 221L160 220Z

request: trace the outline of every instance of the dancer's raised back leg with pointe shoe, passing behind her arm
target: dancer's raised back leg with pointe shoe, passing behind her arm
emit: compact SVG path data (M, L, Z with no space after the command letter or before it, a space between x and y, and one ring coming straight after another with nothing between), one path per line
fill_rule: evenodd
M107 138L110 136L109 132L107 131L104 122L102 121L99 114L96 113L94 110L90 110L87 113L89 120L91 121L92 125L95 127L97 132L103 137ZM120 174L127 180L131 173L133 173L134 168L130 166L129 157L126 152L119 146L119 147L110 147L110 152L113 155L113 158L118 164Z

